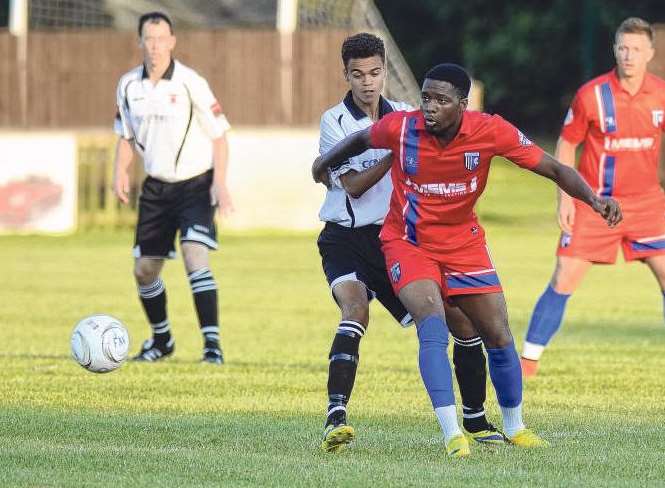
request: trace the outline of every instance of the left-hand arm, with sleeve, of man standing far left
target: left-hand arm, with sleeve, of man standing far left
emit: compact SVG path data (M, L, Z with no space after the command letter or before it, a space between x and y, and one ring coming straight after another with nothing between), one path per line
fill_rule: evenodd
M118 134L113 162L113 193L118 200L126 204L129 203L129 168L134 159L134 147L132 146L134 134L125 97L125 84L121 78L116 93L118 110L113 125L113 130Z

